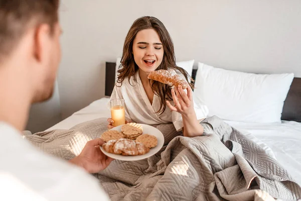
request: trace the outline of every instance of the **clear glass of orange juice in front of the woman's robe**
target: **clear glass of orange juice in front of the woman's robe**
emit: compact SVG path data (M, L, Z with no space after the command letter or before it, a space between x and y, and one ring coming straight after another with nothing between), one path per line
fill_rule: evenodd
M125 124L125 112L124 112L124 99L112 99L111 105L111 119L113 127Z

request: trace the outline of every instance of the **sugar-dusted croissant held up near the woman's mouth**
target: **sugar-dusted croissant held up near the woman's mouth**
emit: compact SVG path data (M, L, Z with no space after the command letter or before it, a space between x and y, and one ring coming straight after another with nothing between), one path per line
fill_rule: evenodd
M153 79L164 84L168 84L171 86L179 87L180 85L183 89L187 88L187 82L181 78L180 75L173 69L171 70L156 70L150 72L147 76L148 79Z

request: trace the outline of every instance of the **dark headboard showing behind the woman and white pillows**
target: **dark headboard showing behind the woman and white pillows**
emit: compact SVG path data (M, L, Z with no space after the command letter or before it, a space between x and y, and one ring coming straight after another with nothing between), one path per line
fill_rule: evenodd
M105 95L110 96L115 84L116 63L106 62ZM195 79L197 69L193 69L192 78ZM292 80L290 89L284 101L281 120L301 122L301 78Z

